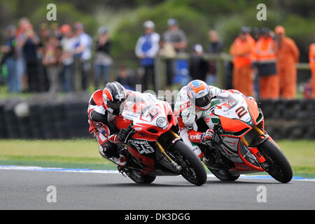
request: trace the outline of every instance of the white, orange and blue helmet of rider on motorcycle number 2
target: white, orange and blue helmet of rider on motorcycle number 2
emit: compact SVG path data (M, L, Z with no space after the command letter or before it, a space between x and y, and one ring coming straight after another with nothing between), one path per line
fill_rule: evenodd
M191 102L195 102L195 106L205 111L211 106L211 92L209 85L202 80L192 80L187 85L187 94Z

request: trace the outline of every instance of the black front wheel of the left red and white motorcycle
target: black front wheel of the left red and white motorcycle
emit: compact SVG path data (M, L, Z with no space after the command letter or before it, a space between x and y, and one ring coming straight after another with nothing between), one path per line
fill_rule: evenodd
M183 141L176 141L172 147L174 160L181 165L181 176L190 183L201 186L207 181L207 172L200 158Z

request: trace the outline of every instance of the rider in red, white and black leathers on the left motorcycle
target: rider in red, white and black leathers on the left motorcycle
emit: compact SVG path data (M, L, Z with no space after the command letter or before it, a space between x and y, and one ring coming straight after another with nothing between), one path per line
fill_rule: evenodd
M118 130L116 123L123 120L121 113L130 92L118 82L107 83L104 90L92 94L87 109L89 132L99 143L99 153L119 166L127 164L125 156L118 152L118 144L125 140L127 130Z

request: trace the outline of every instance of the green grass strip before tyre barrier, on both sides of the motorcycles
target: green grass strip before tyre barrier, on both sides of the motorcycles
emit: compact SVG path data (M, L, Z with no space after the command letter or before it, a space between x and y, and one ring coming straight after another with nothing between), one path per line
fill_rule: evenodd
M315 177L315 141L277 141L295 176ZM0 165L116 169L94 139L0 140Z

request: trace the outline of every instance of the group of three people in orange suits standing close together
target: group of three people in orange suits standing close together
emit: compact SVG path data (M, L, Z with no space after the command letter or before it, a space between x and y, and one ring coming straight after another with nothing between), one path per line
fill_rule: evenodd
M233 59L233 86L246 96L253 95L254 79L258 79L260 99L294 99L300 52L285 29L274 31L263 27L260 32L243 27L230 48Z

